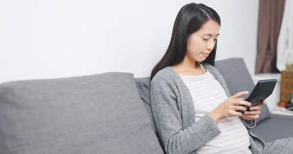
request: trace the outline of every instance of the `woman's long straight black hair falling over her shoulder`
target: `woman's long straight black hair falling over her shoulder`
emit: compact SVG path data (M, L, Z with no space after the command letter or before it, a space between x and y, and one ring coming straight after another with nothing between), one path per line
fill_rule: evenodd
M221 19L217 12L204 4L189 3L183 6L174 22L169 46L163 58L151 71L152 79L161 69L178 64L183 61L187 52L188 37L198 31L203 24L212 19L221 25ZM214 66L217 49L217 41L209 57L204 60Z

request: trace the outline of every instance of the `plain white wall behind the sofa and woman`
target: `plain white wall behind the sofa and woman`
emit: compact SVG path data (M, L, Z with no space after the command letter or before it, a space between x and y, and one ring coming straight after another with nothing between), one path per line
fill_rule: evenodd
M132 72L163 56L179 9L192 0L1 0L0 82ZM258 0L195 0L222 19L217 59L242 57L252 74Z

